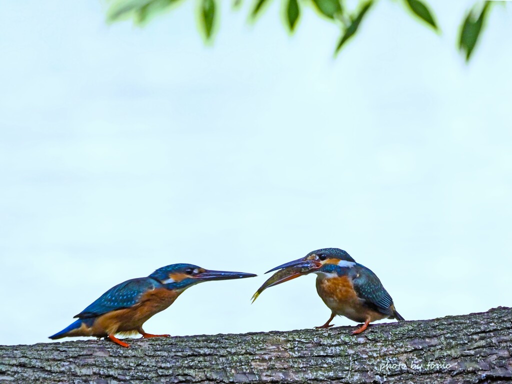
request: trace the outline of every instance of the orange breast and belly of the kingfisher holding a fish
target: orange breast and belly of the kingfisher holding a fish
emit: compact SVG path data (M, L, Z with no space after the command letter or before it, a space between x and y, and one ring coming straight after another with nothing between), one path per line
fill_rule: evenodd
M354 322L363 323L367 319L374 321L384 317L364 305L364 301L357 297L348 276L318 276L316 291L333 313L348 317Z

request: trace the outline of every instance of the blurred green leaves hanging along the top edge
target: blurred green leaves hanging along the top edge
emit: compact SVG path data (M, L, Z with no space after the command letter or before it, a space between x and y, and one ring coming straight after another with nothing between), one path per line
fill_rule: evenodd
M123 19L133 19L136 24L143 25L154 15L166 10L184 0L111 0L108 10L108 20L116 22ZM206 41L214 38L214 32L219 19L220 0L197 0L198 23ZM238 7L241 0L234 0ZM340 37L335 47L337 54L358 31L362 21L367 18L370 9L377 0L360 0L355 9L349 9L346 0L281 0L286 28L293 33L300 20L301 13L306 7L313 8L316 13L328 22L336 23L340 28ZM430 6L422 0L398 0L413 17L420 22L440 32L436 17ZM270 0L255 0L251 7L249 17L256 19L267 7ZM460 32L458 47L466 61L469 61L477 45L481 32L488 17L490 8L497 3L505 2L477 2L464 17Z

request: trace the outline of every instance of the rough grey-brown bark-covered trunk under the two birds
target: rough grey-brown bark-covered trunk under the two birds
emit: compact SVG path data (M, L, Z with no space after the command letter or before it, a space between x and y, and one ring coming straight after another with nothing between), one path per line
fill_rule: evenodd
M329 330L0 346L0 382L498 383L512 309Z

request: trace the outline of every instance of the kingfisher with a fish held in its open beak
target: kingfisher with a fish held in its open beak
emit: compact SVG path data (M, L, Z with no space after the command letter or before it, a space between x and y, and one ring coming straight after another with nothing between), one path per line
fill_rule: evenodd
M305 263L309 263L308 266ZM296 271L297 266L301 267L300 272ZM283 268L290 269L289 275L267 287L304 274L316 273L316 292L331 310L328 321L315 327L317 329L334 326L330 323L336 315L363 323L361 327L352 331L352 334L361 333L371 322L383 318L404 321L377 275L364 265L356 263L343 249L317 249L301 259L282 264L268 272Z

